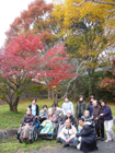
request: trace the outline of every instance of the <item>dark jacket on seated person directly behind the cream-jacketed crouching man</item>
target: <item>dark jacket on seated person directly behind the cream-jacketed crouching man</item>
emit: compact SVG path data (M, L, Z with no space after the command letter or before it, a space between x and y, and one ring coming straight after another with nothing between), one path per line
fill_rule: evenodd
M67 119L68 119L67 115L62 116L62 117L60 118L59 125L64 125L65 121L66 121ZM71 121L71 125L73 125L74 127L78 127L78 126L77 126L76 118L74 118L72 115L71 115L71 117L70 117L69 119L70 119L70 121Z

